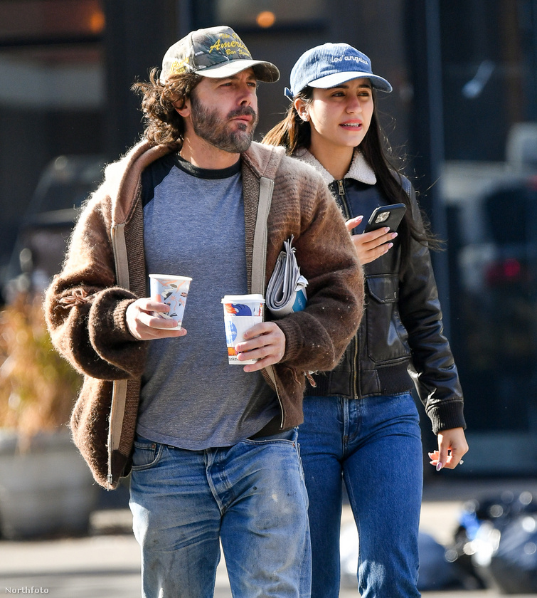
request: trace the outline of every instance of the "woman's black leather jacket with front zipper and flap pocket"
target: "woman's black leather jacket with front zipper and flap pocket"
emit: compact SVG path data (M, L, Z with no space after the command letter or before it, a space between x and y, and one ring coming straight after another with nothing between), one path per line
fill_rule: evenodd
M410 182L413 217L421 222ZM376 184L345 178L329 184L345 219L363 214L363 231L376 206L393 203ZM314 374L317 387L306 394L360 399L418 391L435 434L465 427L462 390L449 342L442 334L442 313L429 249L412 241L410 265L400 278L398 239L381 258L364 266L366 309L356 337L331 372Z

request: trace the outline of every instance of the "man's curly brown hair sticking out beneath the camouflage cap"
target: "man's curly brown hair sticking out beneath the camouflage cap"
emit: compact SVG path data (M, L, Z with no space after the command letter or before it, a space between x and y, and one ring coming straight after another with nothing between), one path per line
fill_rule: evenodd
M201 76L196 73L184 73L173 75L166 83L161 83L157 73L158 69L153 68L149 73L149 82L132 85L132 90L142 95L142 112L146 122L144 137L153 145L182 145L184 122L174 104L184 106L192 90L201 81Z

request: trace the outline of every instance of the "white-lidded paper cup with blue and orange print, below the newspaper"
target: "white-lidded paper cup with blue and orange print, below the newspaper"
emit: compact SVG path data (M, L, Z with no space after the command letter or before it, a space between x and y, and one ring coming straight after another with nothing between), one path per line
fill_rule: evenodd
M230 365L255 363L257 360L239 361L235 345L243 342L246 330L263 321L265 299L262 295L225 295L222 303L228 363Z

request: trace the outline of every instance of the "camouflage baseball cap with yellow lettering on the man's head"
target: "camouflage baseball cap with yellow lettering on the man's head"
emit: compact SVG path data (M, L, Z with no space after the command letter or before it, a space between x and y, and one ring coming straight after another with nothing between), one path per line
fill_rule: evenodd
M230 77L253 68L258 80L274 83L280 71L270 62L252 60L248 48L230 27L191 31L171 46L162 61L161 82L171 75L197 73L203 77Z

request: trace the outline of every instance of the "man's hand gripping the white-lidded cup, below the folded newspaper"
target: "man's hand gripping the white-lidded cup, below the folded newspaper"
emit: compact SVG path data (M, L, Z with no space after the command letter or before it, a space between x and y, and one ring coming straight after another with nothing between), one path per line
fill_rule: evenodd
M245 372L273 365L282 360L285 353L285 335L275 322L261 322L244 334L245 340L235 345L239 361L255 360L245 365Z

